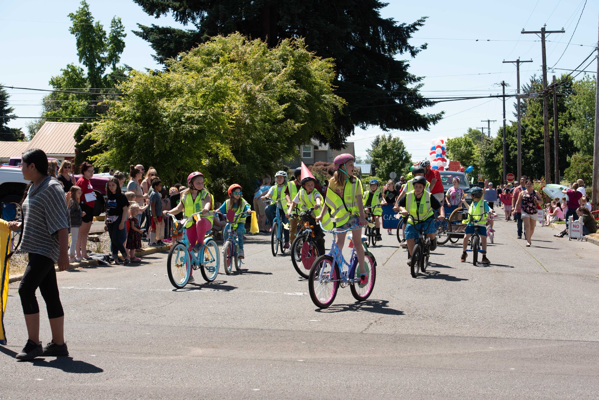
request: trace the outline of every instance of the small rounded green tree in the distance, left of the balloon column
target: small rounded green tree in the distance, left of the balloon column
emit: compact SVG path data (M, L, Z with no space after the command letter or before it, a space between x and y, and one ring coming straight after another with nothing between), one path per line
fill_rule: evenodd
M412 165L412 155L399 137L391 134L377 135L367 150L377 176L387 179L394 171L398 176L407 174Z

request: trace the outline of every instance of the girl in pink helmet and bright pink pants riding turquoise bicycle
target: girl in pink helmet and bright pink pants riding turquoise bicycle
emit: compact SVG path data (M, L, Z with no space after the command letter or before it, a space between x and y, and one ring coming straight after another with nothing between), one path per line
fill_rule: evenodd
M181 201L173 210L164 211L163 214L179 214L183 211L185 217L201 211L202 216L194 216L193 220L185 225L190 249L198 253L204 244L206 232L212 227L213 216L208 216L214 204L214 198L204 189L204 174L195 171L187 177L189 187L181 192ZM192 271L193 274L193 271ZM193 282L193 276L189 278Z

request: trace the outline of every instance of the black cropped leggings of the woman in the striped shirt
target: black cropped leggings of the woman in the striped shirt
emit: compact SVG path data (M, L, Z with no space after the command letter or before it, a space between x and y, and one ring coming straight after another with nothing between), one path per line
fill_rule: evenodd
M65 315L60 303L53 260L41 254L29 253L29 263L19 284L23 314L37 314L40 312L37 298L35 298L35 290L38 287L44 301L46 301L48 318L59 318Z

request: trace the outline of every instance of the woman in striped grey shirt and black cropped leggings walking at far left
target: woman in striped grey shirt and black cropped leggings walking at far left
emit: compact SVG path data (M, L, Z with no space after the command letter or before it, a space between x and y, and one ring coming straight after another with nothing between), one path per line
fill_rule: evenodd
M69 214L65 193L58 180L48 176L48 159L40 149L31 149L22 157L22 173L31 181L23 200L23 223L10 222L12 231L23 228L21 250L29 254L29 262L19 284L19 296L25 314L28 341L16 355L19 360L31 360L38 356L68 356L64 338L64 313L55 263L60 271L69 265ZM52 329L52 340L43 349L40 343L40 308L35 291L46 301L46 309Z

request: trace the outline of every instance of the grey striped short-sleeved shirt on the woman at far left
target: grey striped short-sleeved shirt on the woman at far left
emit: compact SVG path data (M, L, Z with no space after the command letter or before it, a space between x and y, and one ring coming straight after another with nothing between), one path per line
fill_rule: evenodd
M23 214L21 250L42 254L57 263L58 231L70 225L65 192L58 179L47 177L38 186L31 186L23 201Z

